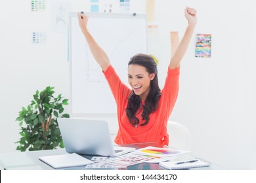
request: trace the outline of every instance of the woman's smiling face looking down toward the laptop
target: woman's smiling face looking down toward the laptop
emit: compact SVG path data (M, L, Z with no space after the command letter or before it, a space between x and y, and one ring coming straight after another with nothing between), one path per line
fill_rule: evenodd
M137 64L131 64L128 67L128 82L136 95L144 100L150 92L150 82L155 74L149 74L146 68Z

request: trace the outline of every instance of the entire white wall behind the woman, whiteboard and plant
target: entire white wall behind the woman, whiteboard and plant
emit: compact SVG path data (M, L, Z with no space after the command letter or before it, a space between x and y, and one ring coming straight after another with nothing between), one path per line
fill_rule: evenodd
M35 90L55 86L56 93L69 96L67 35L51 31L50 10L32 14L30 3L0 5L0 152L15 150L19 135L14 120ZM86 10L88 3L72 1L72 10ZM131 11L144 12L144 3L131 1ZM51 1L47 5L51 7ZM195 58L195 37L191 41L182 60L180 93L171 120L192 133L192 154L228 169L256 169L253 1L156 0L159 46L149 51L160 59L161 85L170 58L169 31L179 31L180 37L184 33L186 5L198 10L195 36L212 35L212 52L211 58ZM45 44L32 44L35 29L47 31Z

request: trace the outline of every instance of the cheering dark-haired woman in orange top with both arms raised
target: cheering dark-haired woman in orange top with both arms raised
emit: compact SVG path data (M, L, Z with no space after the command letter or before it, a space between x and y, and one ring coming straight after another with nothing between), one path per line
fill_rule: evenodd
M188 25L171 58L165 85L160 91L156 63L152 57L146 54L137 54L128 63L128 81L132 90L123 84L110 64L108 56L89 33L87 29L88 16L78 14L81 31L116 100L119 124L115 139L117 144L137 142L169 144L167 121L179 92L180 63L197 23L194 8L186 7L184 15L188 20Z

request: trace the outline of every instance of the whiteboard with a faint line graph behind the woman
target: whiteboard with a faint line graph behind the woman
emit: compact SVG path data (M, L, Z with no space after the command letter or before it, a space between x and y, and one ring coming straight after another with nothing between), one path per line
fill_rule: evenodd
M145 14L85 13L88 29L108 54L125 84L127 65L137 53L147 54ZM70 105L76 114L116 114L116 102L98 63L80 30L77 12L69 13Z

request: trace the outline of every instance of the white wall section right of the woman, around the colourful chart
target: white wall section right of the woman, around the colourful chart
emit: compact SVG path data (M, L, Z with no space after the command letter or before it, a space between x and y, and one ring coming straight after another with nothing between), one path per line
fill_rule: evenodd
M229 169L255 169L252 1L197 1L193 6L198 10L195 33L212 35L212 57L194 58L192 41L182 62L179 99L171 120L191 131L192 154ZM169 7L177 5L170 2ZM178 14L179 6L173 10Z

